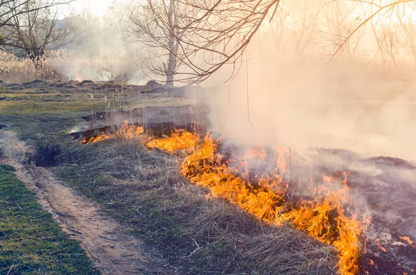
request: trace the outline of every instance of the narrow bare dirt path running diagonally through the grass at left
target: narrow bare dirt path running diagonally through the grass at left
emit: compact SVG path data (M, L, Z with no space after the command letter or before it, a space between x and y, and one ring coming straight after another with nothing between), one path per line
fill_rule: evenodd
M16 168L16 175L35 193L38 202L62 229L80 240L103 274L173 274L157 251L144 251L137 238L102 213L99 206L55 179L53 173L32 165L33 150L8 131L0 130L1 163Z

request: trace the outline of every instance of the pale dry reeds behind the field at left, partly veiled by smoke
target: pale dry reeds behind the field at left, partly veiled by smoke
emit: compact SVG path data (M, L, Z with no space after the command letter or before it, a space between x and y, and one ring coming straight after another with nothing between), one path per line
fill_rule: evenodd
M3 82L23 83L33 80L135 80L139 68L134 56L98 53L87 56L76 51L49 51L40 60L19 59L0 52L0 76Z

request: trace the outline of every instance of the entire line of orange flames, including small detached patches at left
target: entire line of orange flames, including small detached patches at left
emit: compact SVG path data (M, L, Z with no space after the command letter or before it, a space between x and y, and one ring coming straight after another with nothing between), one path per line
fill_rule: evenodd
M119 131L143 136L142 127L131 128L127 122ZM89 142L108 138L100 134ZM265 222L291 224L316 240L335 246L339 251L340 274L358 274L358 258L365 245L361 235L368 224L360 220L358 211L348 207L349 171L322 175L323 184L316 184L314 198L293 201L289 195L291 182L286 180L291 173L286 166L286 158L291 154L288 148L276 147L267 152L251 148L241 157L227 159L217 152L218 143L209 134L199 139L185 131L147 141L146 145L167 152L186 151L181 172L193 184L208 188L211 196L227 199ZM270 156L272 161L266 159ZM261 166L257 167L258 163ZM251 166L258 168L256 172L250 170Z

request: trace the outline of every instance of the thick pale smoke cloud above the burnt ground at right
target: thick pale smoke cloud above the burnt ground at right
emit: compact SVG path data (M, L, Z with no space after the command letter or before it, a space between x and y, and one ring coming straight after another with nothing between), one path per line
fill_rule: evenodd
M288 58L260 45L247 59L228 85L226 70L207 85L212 130L246 145L416 158L415 82L406 74L365 60Z

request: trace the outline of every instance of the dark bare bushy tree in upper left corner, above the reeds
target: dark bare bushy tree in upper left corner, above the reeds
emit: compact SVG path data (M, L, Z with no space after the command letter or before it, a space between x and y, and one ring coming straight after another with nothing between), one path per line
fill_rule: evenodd
M2 46L6 51L14 51L39 60L49 44L64 39L69 33L59 26L58 12L51 9L67 2L0 0L0 33Z

